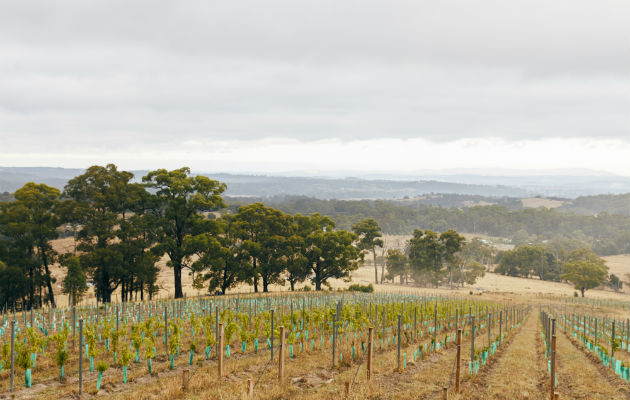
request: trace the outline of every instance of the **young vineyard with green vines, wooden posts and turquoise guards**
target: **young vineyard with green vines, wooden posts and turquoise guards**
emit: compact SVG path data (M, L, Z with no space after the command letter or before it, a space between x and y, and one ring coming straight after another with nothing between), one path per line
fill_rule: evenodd
M340 292L6 312L0 398L627 398L629 321L580 306Z

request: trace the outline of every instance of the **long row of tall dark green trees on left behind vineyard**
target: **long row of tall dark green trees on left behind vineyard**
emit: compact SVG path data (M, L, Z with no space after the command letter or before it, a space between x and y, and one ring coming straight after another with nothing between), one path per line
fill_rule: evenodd
M217 216L225 207L225 185L188 168L149 172L142 183L115 165L93 166L71 179L63 193L28 183L14 201L0 206L0 301L25 307L55 305L51 266L67 267L64 291L80 297L86 277L97 298L144 298L158 289L156 263L168 256L175 297L182 297L182 272L194 286L225 293L241 282L254 291L310 278L317 290L330 278L358 267L357 236L335 230L317 213L291 216L261 203ZM70 254L51 245L64 226L75 237Z

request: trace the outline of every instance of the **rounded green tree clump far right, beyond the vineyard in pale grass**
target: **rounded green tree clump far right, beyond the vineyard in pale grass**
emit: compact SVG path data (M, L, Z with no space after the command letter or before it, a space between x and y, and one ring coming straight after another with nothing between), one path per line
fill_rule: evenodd
M622 283L615 275L608 275L603 259L586 247L559 248L556 243L523 245L498 255L495 272L520 277L537 277L548 281L568 281L584 292L608 284L615 290Z

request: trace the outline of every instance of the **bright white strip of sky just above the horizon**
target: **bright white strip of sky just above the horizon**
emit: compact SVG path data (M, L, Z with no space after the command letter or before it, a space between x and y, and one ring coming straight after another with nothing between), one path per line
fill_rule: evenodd
M85 168L113 162L125 169L179 168L245 173L335 174L382 171L409 174L434 169L550 170L591 169L630 175L630 142L597 139L506 141L461 139L434 143L424 139L359 141L293 139L183 141L169 149L2 153L0 165L55 165Z

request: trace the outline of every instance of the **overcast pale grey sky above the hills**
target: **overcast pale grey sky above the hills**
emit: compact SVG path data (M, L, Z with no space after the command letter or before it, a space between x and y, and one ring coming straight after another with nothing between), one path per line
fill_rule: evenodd
M0 1L0 165L630 174L630 2Z

